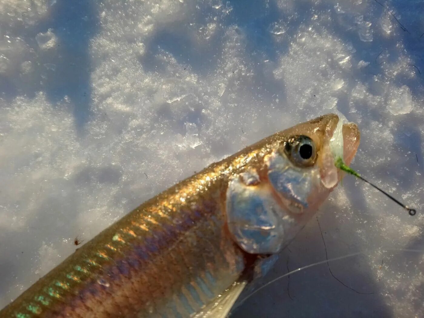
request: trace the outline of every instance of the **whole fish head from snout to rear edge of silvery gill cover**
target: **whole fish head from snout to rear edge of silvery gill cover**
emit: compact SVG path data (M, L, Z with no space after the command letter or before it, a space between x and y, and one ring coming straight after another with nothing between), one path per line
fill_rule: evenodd
M263 162L238 174L227 190L229 229L248 253L288 245L343 177L360 141L353 123L327 114L270 137Z

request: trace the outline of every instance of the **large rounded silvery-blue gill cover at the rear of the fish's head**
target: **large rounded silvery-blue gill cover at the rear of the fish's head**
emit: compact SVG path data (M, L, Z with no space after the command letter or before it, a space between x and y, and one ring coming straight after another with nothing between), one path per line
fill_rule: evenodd
M226 192L228 228L237 244L250 254L275 254L285 243L284 211L267 183L255 171L241 173Z

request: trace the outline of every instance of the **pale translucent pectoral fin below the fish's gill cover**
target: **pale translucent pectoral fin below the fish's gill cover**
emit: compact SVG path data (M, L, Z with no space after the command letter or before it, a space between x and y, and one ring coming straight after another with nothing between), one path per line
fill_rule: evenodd
M217 296L193 318L226 318L234 303L247 285L247 281L234 282L221 295Z

